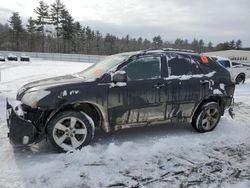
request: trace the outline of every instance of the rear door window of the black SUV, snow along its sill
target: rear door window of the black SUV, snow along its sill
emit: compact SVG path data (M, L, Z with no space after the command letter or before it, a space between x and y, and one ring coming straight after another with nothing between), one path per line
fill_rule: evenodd
M177 56L168 60L169 75L202 74L199 65L188 57Z

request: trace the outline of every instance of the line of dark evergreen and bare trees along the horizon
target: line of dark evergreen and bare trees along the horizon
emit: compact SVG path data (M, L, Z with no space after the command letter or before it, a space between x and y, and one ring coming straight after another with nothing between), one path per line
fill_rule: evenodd
M51 5L40 1L34 12L36 17L30 17L25 26L18 12L13 12L7 24L0 23L0 50L109 55L149 48L184 48L207 52L242 47L239 39L213 46L212 42L205 44L202 39L189 42L177 38L169 42L160 35L152 39L129 35L117 37L110 33L102 35L99 30L92 30L75 21L60 0L55 0Z

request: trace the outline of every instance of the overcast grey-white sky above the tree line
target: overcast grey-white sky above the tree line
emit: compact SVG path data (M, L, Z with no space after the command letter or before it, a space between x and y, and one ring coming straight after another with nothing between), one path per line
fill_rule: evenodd
M51 4L54 0L44 0ZM39 0L0 0L0 22L13 11L35 17ZM117 36L161 35L213 44L241 39L250 47L250 0L62 0L76 21Z

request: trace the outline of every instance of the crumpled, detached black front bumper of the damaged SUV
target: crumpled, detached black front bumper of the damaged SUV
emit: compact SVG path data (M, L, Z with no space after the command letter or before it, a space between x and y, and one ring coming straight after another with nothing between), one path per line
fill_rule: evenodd
M17 146L29 145L35 142L37 137L36 127L23 117L17 115L13 107L6 100L8 137L11 144Z

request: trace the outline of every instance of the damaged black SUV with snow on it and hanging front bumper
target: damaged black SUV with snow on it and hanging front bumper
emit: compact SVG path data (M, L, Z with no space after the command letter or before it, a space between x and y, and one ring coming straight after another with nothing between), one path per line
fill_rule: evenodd
M161 123L212 131L230 107L235 85L212 59L174 50L108 56L73 74L24 85L15 109L7 101L9 138L29 145L48 137L68 151L111 132Z

